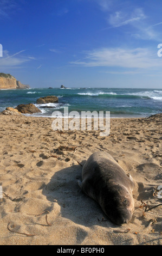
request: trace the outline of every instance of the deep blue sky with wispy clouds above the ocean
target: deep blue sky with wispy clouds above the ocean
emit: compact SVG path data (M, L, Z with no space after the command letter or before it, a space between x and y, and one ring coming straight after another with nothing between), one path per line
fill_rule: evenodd
M161 0L0 0L0 72L31 87L162 88Z

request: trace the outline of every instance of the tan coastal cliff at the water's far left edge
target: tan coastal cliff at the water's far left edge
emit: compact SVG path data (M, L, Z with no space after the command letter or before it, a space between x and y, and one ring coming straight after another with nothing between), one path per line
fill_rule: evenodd
M0 73L0 90L1 89L28 89L30 86L22 84L17 81L14 76L10 74Z

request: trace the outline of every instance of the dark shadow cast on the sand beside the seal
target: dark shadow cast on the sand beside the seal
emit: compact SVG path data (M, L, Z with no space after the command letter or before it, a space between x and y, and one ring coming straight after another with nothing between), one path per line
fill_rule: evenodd
M56 172L42 193L50 202L59 204L59 214L74 223L92 227L101 225L103 227L117 227L107 220L100 205L93 199L83 194L78 180L81 180L82 167L74 165ZM54 203L55 204L55 203ZM54 206L55 209L55 206Z

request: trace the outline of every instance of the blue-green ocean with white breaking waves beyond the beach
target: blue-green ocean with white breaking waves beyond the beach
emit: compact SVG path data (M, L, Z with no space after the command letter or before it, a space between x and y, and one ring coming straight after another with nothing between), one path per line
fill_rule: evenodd
M39 97L55 95L59 103L37 105ZM51 117L54 111L110 111L112 118L147 117L162 112L162 89L131 88L30 88L0 90L0 111L6 107L34 103L42 113L38 117ZM51 107L51 108L46 108Z

